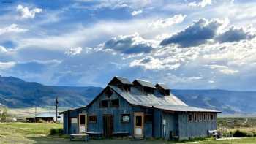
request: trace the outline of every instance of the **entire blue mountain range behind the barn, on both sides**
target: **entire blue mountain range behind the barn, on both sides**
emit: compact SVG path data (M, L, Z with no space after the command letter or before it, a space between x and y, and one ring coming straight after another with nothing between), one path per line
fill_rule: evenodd
M44 86L16 77L0 76L0 105L7 107L53 106L56 96L61 107L88 104L100 87ZM221 110L223 113L256 113L256 91L171 90L187 105Z

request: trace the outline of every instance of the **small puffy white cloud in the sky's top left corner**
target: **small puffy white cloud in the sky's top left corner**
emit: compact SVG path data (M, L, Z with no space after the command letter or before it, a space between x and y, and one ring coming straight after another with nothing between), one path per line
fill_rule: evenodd
M20 18L26 19L26 18L34 18L36 16L36 13L42 12L42 9L40 8L34 8L29 10L29 7L23 7L23 5L19 4L16 7L16 10L19 12Z

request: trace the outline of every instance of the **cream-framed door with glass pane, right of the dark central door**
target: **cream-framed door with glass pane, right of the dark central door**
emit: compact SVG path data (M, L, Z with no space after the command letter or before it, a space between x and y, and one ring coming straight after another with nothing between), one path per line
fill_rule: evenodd
M144 131L144 113L136 112L134 113L134 136L143 137Z

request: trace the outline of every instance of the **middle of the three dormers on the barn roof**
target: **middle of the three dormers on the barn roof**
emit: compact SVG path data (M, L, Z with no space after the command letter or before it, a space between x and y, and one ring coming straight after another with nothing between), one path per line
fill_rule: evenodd
M142 91L145 94L154 94L154 85L146 80L138 80L135 79L133 82L133 85L138 88L140 91Z

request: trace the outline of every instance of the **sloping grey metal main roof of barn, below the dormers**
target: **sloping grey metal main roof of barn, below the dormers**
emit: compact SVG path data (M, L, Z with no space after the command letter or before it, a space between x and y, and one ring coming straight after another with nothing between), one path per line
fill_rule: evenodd
M181 99L178 99L173 94L170 96L157 96L155 94L143 94L137 88L132 87L131 91L122 91L117 86L109 86L116 93L122 96L132 105L140 105L145 107L155 107L161 110L170 110L178 112L214 112L220 113L217 110L208 110L199 107L189 107Z

